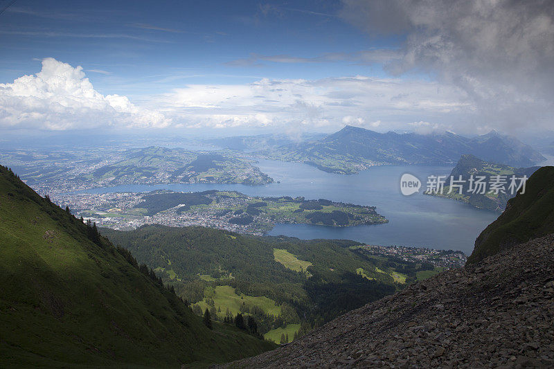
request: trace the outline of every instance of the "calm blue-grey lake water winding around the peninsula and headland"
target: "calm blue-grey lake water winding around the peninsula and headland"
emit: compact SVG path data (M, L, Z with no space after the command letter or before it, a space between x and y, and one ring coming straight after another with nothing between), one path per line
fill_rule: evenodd
M434 249L455 249L469 254L477 235L498 214L472 208L467 204L416 193L409 197L400 193L400 177L409 172L422 183L427 176L447 175L446 166L385 165L364 170L356 175L343 176L322 172L301 163L260 161L260 170L275 181L267 186L238 184L165 184L159 186L127 185L87 190L89 193L148 192L157 189L175 191L237 190L253 196L303 196L306 199L331 199L377 206L377 213L388 224L355 227L313 226L307 224L278 224L270 235L287 235L302 239L348 239L369 244L427 246ZM421 190L420 190L421 191Z

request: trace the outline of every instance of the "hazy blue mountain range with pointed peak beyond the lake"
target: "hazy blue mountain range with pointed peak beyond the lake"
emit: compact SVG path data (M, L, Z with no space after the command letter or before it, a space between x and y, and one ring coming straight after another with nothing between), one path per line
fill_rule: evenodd
M533 147L495 131L467 138L452 132L378 133L350 125L317 141L269 147L260 154L301 161L339 174L356 173L371 165L454 163L463 154L513 167L528 167L546 160Z

